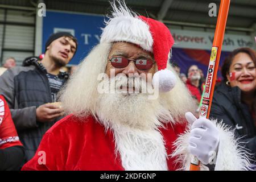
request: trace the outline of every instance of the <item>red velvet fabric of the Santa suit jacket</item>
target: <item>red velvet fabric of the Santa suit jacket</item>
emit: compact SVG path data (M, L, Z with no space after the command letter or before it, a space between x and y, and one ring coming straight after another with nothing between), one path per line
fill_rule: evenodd
M167 124L166 129L160 129L167 154L172 153L172 143L184 130L185 124ZM79 121L69 115L47 131L35 156L22 170L124 170L119 154L116 156L114 151L112 131L105 131L92 116ZM174 160L167 159L168 169L180 167Z

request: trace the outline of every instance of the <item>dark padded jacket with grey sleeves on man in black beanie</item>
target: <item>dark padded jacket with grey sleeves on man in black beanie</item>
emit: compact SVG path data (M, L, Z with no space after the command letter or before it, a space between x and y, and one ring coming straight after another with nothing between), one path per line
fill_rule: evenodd
M54 122L37 122L36 108L52 102L46 69L34 58L28 60L26 67L15 67L0 76L0 94L11 110L20 141L25 148L26 160L35 155L42 136ZM60 78L68 79L67 73Z

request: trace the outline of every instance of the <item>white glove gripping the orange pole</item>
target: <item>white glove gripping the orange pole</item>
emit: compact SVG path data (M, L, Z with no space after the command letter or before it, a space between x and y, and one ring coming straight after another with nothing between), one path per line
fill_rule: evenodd
M217 127L207 118L199 118L188 112L185 117L192 124L189 136L189 151L203 164L209 164L213 154L216 157L220 136Z

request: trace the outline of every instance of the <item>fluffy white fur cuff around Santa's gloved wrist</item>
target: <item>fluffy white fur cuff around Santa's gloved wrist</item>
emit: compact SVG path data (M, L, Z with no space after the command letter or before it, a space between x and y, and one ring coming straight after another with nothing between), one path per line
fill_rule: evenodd
M234 132L229 127L217 121L212 121L220 134L220 143L218 145L217 159L215 161L216 171L241 171L248 170L250 167L250 154L243 148L234 137ZM183 135L176 139L175 151L171 156L176 157L176 162L181 163L180 170L189 170L191 154L188 150L188 139L190 127ZM201 170L208 170L208 167L201 164Z

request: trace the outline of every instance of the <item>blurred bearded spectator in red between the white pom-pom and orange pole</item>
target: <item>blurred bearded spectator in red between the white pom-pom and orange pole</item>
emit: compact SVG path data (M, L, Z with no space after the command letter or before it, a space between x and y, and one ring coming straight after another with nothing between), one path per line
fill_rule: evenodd
M200 72L197 65L191 65L187 71L187 88L191 92L192 96L196 98L199 103L201 100L202 90L200 88Z

